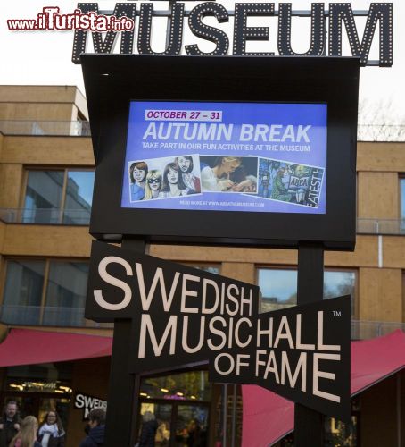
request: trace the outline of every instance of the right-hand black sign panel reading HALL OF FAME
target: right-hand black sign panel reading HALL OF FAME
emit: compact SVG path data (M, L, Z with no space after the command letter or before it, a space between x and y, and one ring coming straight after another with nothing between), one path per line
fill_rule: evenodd
M260 314L210 362L212 382L257 384L350 419L350 296Z

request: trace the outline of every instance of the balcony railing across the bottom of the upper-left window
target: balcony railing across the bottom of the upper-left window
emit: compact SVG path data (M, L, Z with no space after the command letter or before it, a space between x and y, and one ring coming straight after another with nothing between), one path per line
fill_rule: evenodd
M88 225L90 214L91 209L0 208L0 220L4 223Z

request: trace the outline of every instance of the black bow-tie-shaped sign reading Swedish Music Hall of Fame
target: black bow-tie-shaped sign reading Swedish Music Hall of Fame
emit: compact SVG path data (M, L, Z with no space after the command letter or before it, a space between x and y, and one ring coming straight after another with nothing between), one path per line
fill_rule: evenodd
M350 297L259 314L259 288L94 242L86 317L133 319L132 373L209 361L214 382L258 384L350 416Z

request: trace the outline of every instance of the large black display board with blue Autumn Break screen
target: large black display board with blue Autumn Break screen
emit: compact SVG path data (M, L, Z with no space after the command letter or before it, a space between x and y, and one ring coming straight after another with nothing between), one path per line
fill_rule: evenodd
M90 223L95 238L136 236L172 243L293 248L302 242L316 242L326 249L354 248L358 59L83 55L82 66L96 163ZM132 121L130 104L135 111ZM142 104L144 109L139 108ZM324 131L322 139L311 137L318 124L307 122L309 115L293 122L294 114L289 113L280 122L281 115L269 117L263 112L244 121L247 117L237 110L247 110L248 104L252 110L255 104L258 110L268 110L270 104L276 108L294 104L300 109L325 105L327 136ZM209 120L214 121L198 121L202 111L207 115L207 107L212 113ZM138 134L150 119L153 129L161 131ZM255 130L252 140L241 136L239 127L243 125ZM302 133L309 126L308 135ZM166 140L169 129L170 139ZM301 130L300 144L307 137L311 144L322 141L325 163L304 156L315 150L310 144L296 144L293 129ZM189 145L178 139L180 130L181 139L190 138L186 141ZM211 141L207 135L214 130L226 135L221 133L219 139L214 132ZM205 148L204 143L211 143L212 148ZM161 144L171 151L170 156L167 152L157 154L163 150ZM153 149L154 145L158 147ZM253 154L250 146L256 151L254 163L248 159ZM232 162L224 160L229 155L236 158L237 168L244 168L242 180L234 175L236 165L226 165ZM195 186L196 182L194 188L182 184L183 179L190 180L186 177L190 173L179 173L179 160L184 157L194 161L191 173L200 179L200 186ZM135 168L142 179L134 177ZM175 171L177 183L168 180L170 169ZM247 190L241 189L243 179L250 184L244 186ZM136 181L144 189L139 196ZM149 182L152 186L146 188ZM219 190L220 200L211 186ZM324 192L319 193L322 188ZM276 206L277 212L263 212ZM324 208L314 214L316 207Z

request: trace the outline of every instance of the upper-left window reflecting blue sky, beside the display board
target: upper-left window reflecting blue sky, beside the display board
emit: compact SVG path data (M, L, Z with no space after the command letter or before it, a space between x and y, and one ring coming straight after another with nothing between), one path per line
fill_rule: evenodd
M22 222L87 225L94 180L94 171L28 171Z

